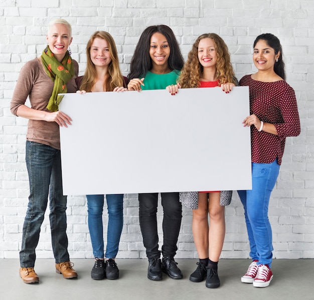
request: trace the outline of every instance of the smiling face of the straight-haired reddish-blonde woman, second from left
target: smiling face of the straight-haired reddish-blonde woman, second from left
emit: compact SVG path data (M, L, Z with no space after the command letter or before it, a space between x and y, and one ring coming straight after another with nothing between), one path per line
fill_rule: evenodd
M97 67L108 66L111 62L109 46L106 40L95 38L90 47L90 59Z

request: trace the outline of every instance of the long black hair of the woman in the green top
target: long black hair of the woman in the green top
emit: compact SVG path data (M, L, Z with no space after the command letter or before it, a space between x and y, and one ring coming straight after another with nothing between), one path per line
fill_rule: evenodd
M181 70L184 65L183 56L175 34L167 25L154 25L147 27L141 34L130 64L130 73L128 80L145 76L147 71L151 70L152 63L149 56L150 38L159 32L163 34L170 47L170 56L168 58L168 67L170 70Z

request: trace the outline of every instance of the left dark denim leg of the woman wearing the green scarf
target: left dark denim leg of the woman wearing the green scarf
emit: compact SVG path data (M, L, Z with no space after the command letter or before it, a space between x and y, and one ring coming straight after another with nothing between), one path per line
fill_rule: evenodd
M29 175L30 196L23 225L21 267L34 267L35 265L35 249L47 209L52 170L55 168L54 164L58 156L60 156L58 149L38 142L26 142L26 166ZM54 183L51 184L54 185ZM62 186L55 188L62 191Z

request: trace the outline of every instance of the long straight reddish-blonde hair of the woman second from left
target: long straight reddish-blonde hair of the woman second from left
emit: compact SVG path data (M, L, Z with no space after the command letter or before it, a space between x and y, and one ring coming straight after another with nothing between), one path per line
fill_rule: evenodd
M90 92L94 84L96 83L97 72L95 65L93 64L90 58L90 49L94 42L94 40L103 39L108 43L109 54L111 58L111 62L108 66L108 74L106 79L103 82L103 88L107 92L113 91L113 89L117 86L124 86L124 79L121 74L119 68L119 59L117 54L117 49L114 43L112 36L105 31L96 31L89 39L87 46L86 46L86 56L87 56L87 64L85 74L82 79L81 86L79 87L80 90L85 90L86 92Z

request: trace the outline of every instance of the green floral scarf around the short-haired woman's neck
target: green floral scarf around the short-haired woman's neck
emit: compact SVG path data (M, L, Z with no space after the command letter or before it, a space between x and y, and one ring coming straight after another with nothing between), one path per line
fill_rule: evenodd
M67 92L66 83L74 76L72 58L67 51L65 57L60 63L48 46L43 51L41 58L48 76L55 83L47 109L50 111L57 111L59 110L59 104L63 98L62 95L58 96L58 94Z

